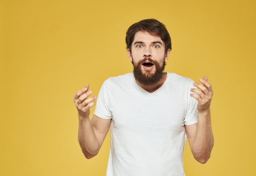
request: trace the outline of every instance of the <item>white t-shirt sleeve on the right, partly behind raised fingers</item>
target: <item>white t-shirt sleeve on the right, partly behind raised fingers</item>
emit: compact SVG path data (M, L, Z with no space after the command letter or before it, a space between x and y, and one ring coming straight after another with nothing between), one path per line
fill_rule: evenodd
M194 97L190 96L190 94L196 94L191 92L190 89L197 89L195 85L193 85L194 80L190 79L189 81L189 89L188 89L188 101L187 101L187 111L184 119L185 125L192 125L198 123L198 100Z

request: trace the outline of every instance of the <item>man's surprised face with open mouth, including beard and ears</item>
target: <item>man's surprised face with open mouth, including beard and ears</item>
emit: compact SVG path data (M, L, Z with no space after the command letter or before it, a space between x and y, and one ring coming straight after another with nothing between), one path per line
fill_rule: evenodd
M132 53L129 49L127 51L134 65L136 80L144 85L153 85L161 80L169 52L165 55L164 42L159 36L139 31L132 43Z

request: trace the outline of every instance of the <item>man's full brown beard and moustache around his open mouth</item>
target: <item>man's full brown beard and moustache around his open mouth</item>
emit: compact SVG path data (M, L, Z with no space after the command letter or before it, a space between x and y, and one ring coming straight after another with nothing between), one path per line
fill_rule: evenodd
M154 63L153 65L155 66L154 73L150 73L152 70L150 71L145 70L146 73L142 72L142 63L144 63L146 60L149 60L151 63ZM150 57L145 57L143 60L139 61L137 65L134 64L133 60L132 60L132 63L134 65L134 77L137 81L139 81L143 85L154 85L158 83L163 77L163 70L166 65L164 58L163 58L162 66L160 66L160 64L157 61L152 60Z

